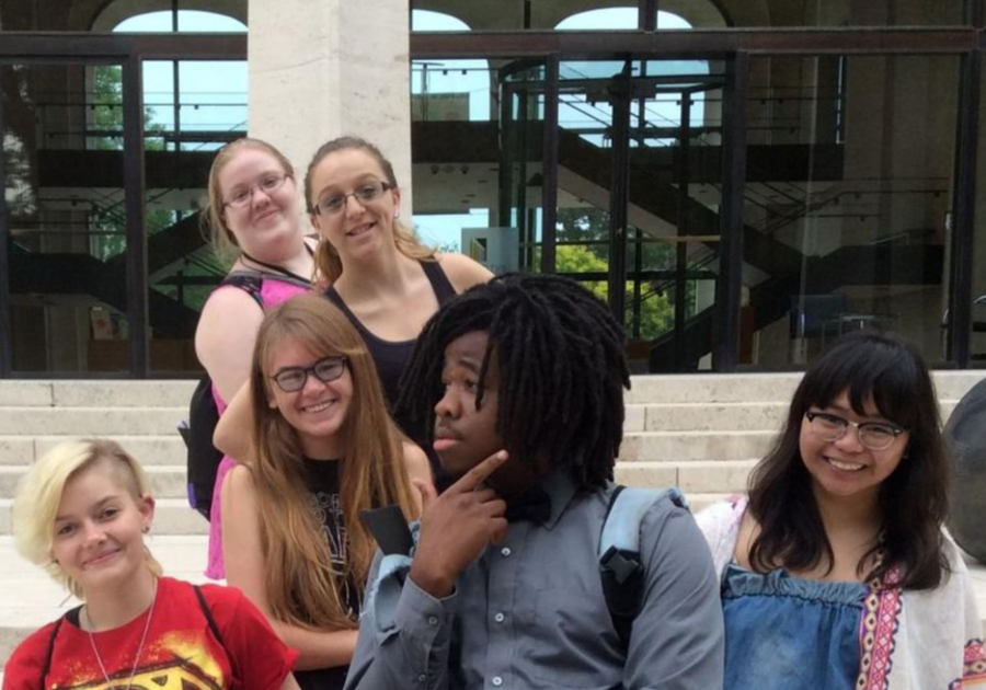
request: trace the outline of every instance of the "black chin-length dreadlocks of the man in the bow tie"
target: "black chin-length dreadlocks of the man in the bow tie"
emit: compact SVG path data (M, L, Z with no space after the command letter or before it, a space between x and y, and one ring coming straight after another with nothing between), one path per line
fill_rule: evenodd
M477 410L495 356L496 432L511 456L563 468L582 490L611 480L623 437L623 389L630 388L623 329L603 301L569 278L507 274L446 302L417 338L401 379L398 418L431 446L445 348L475 331L489 336Z

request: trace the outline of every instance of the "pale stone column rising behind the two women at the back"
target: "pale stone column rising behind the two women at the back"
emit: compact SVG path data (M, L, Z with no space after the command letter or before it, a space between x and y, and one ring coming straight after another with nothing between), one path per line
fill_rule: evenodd
M250 135L299 176L324 141L363 137L393 163L409 214L409 0L251 0L249 13Z

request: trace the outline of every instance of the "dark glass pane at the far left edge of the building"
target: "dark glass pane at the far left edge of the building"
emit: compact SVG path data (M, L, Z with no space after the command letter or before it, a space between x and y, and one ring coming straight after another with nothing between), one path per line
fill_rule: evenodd
M14 371L129 369L122 76L0 65Z

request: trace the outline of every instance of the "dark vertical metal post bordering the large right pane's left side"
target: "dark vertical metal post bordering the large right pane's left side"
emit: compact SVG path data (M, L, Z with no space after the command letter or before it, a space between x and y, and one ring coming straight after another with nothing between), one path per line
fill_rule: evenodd
M735 371L740 364L740 309L743 290L743 193L746 184L746 102L749 55L737 53L726 66L722 119L722 204L719 209L719 280L712 369Z

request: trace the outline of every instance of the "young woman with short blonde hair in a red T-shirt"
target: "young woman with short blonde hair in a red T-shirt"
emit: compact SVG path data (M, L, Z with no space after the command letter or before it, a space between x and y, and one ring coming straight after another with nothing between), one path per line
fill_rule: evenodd
M27 471L18 550L84 603L14 651L4 690L297 690L297 653L240 591L162 576L144 543L153 517L144 470L114 441L61 444Z

